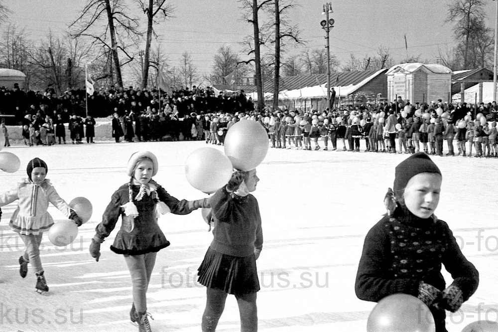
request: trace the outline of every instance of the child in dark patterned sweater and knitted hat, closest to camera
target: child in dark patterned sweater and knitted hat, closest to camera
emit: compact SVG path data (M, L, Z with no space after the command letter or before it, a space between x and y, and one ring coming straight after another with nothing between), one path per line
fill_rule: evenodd
M478 271L448 224L434 215L441 180L441 171L424 153L396 166L393 189L384 199L387 213L365 238L355 284L365 301L395 293L418 297L429 307L436 332L446 331L445 310L456 312L479 284ZM441 265L453 278L450 286Z

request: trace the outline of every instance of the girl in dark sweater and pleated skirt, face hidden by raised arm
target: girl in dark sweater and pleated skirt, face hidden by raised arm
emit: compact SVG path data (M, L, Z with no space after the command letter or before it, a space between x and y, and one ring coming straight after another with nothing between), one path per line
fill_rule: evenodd
M199 283L206 286L202 331L215 331L228 294L235 295L241 331L257 331L256 259L263 246L261 216L254 196L256 170L236 171L226 186L209 198L216 227L213 241L199 267Z

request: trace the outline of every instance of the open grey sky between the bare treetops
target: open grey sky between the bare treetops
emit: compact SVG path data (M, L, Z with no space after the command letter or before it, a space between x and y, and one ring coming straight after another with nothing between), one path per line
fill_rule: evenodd
M133 3L133 0L128 0ZM171 66L179 65L180 55L188 51L201 73L212 71L213 56L222 45L240 51L239 42L251 33L251 26L241 19L240 2L236 0L182 0L175 2L175 17L156 27L163 38L162 49ZM306 45L296 45L289 54L325 45L320 27L322 5L326 1L296 0L291 20L298 24ZM380 45L390 49L400 61L406 56L421 55L432 60L438 48L454 45L451 25L445 23L451 0L340 0L332 1L335 27L330 33L330 51L344 64L350 54L363 58L375 55ZM494 29L496 2L487 2L488 26ZM67 25L86 3L80 0L6 0L12 11L9 21L25 28L32 38L46 38L67 30ZM130 6L131 7L131 6ZM140 12L135 9L137 15ZM405 50L406 34L408 50ZM245 55L242 59L248 59ZM491 69L491 68L490 68Z

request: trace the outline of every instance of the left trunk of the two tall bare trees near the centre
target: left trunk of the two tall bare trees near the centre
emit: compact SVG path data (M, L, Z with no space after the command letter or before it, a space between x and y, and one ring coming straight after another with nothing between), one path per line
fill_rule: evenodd
M239 0L241 3L241 8L243 9L243 18L252 24L252 35L253 43L252 49L249 50L248 55L254 54L254 57L244 63L254 62L254 79L256 84L257 93L257 109L262 110L264 107L264 96L263 96L263 81L261 77L261 39L259 35L259 10L261 10L265 5L268 5L272 0ZM247 42L248 45L251 43Z

